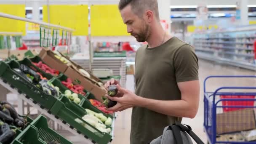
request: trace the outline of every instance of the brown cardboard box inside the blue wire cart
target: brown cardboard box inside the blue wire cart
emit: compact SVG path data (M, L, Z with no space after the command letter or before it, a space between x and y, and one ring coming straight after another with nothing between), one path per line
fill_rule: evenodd
M256 128L253 109L240 109L216 115L217 134L247 131Z

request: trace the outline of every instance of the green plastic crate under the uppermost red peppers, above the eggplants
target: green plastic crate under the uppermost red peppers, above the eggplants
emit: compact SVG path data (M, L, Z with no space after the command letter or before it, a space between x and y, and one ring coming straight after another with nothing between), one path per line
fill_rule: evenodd
M29 68L31 68L35 72L39 72L43 77L47 78L47 80L51 80L53 78L53 75L44 72L39 67L32 64L32 62L28 58L24 58L23 60L18 61L18 62L19 62L19 64L24 64L24 65L28 66Z

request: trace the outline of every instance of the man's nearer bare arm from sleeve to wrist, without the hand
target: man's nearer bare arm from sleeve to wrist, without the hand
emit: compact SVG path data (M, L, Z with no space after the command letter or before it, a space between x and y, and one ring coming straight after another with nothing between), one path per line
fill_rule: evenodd
M181 100L160 101L137 97L135 105L164 115L194 118L199 105L199 81L181 82L178 83L178 86L181 91Z

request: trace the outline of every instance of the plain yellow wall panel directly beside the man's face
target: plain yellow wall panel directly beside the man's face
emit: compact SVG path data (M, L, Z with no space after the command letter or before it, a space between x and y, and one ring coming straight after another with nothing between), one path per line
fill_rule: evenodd
M123 23L117 5L91 6L92 36L125 36L126 26Z

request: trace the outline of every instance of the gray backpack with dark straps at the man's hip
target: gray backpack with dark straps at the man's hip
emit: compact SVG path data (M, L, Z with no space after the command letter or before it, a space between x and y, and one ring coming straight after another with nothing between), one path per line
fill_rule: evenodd
M150 144L193 144L190 136L197 144L204 144L191 127L189 125L184 126L184 124L173 124L165 127L163 135L151 141Z

